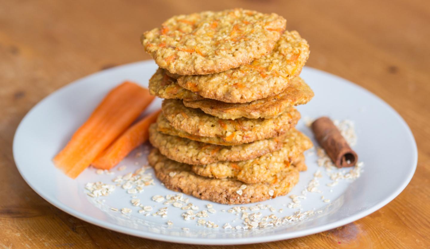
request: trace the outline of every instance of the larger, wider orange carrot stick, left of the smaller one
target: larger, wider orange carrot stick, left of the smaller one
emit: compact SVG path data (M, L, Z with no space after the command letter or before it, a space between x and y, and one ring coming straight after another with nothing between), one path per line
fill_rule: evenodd
M154 100L148 89L124 82L112 89L88 120L52 160L56 167L76 178Z

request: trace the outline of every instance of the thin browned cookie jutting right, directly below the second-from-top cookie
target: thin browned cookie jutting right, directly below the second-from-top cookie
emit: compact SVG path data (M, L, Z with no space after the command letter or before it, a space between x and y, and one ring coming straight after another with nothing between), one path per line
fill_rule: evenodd
M292 106L302 105L313 97L313 91L300 77L291 80L280 94L249 103L225 103L219 100L185 100L184 105L223 119L273 118Z

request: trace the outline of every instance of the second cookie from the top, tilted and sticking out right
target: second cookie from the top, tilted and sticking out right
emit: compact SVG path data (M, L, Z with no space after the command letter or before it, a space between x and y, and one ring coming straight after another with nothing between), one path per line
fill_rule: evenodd
M208 75L181 76L178 84L198 95L227 103L246 103L281 93L298 76L309 45L296 31L286 31L269 55L238 68Z

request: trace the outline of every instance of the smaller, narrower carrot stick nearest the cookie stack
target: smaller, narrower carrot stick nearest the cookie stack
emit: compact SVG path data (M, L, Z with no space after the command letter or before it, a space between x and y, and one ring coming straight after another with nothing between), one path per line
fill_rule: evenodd
M110 170L123 160L133 149L148 140L149 125L157 120L161 110L142 118L127 129L111 146L95 158L92 166L98 169Z

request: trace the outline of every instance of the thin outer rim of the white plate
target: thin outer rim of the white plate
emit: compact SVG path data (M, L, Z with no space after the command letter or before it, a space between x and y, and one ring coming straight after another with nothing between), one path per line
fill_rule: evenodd
M349 216L349 217L344 218L344 219L340 219L340 220L335 221L335 222L327 223L326 225L320 225L320 226L317 226L315 228L308 228L308 229L304 229L301 231L295 231L295 232L290 232L290 233L286 233L286 234L269 234L269 235L258 236L258 237L222 238L222 239L178 237L178 236L172 236L172 235L167 235L167 234L156 234L156 233L151 233L151 232L147 232L147 231L136 231L135 229L126 228L126 227L123 227L123 226L120 226L117 224L112 224L109 222L101 221L99 219L95 219L92 216L88 216L84 213L81 213L81 212L76 211L72 208L69 208L68 206L64 205L61 202L55 202L54 198L51 198L48 195L43 194L42 191L39 191L34 185L32 185L31 182L29 181L29 179L27 179L25 177L25 174L22 171L23 169L21 167L19 167L19 165L17 163L17 155L16 155L17 154L17 152L16 152L17 151L17 143L16 143L17 134L22 129L22 124L24 123L26 118L28 118L28 116L31 114L31 112L33 112L39 105L41 105L43 102L45 102L53 94L56 94L60 91L67 91L67 89L69 87L71 87L71 85L74 85L74 84L82 81L83 79L95 76L99 73L106 73L106 72L111 71L111 70L120 70L122 67L130 67L130 66L135 66L136 64L150 64L150 63L153 63L153 61L152 60L145 60L145 61L137 61L137 62L133 62L133 63L129 63L129 64L123 64L123 65L120 65L117 67L109 68L107 70L97 71L95 73L91 73L87 76L84 76L80 79L76 79L73 82L70 82L67 85L62 86L61 88L56 89L55 91L50 93L48 96L44 97L42 100L37 102L37 104L35 104L25 114L25 116L22 118L18 127L15 130L15 134L13 137L13 143L12 143L12 151L13 151L12 153L13 153L15 166L18 169L19 174L22 176L22 178L25 180L25 182L30 186L30 188L33 189L33 191L35 191L40 197L42 197L44 200L46 200L51 205L57 207L58 209L64 211L65 213L68 213L71 216L74 216L74 217L81 219L85 222L89 222L92 225L97 225L97 226L100 226L102 228L106 228L106 229L109 229L112 231L117 231L117 232L120 232L123 234L129 234L129 235L133 235L136 237L142 237L142 238L146 238L146 239L160 240L160 241L172 242L172 243L198 244L198 245L239 245L239 244L264 243L264 242L272 242L272 241L278 241L278 240L292 239L292 238L296 238L296 237L302 237L302 236L307 236L307 235L311 235L311 234L316 234L316 233L319 233L322 231L327 231L327 230L337 228L337 227L346 225L348 223L354 222L358 219L361 219L365 216L368 216L368 215L374 213L375 211L381 209L383 206L385 206L389 202L391 202L394 198L396 198L406 188L406 186L409 184L409 182L412 180L412 177L414 176L414 173L415 173L415 170L416 170L417 164L418 164L418 148L417 148L417 144L415 141L415 137L414 137L411 129L409 128L408 124L406 123L406 121L402 118L402 116L398 112L396 112L396 110L392 106L390 106L387 102L382 100L377 95L373 94L371 91L363 88L362 86L357 85L353 82L350 82L349 80L344 79L340 76L334 75L332 73L328 73L328 72L318 70L318 69L315 69L312 67L306 67L306 70L316 71L318 73L325 74L326 76L335 77L337 79L342 80L346 84L352 85L353 87L361 88L362 91L365 91L367 94L370 94L372 97L379 100L383 105L385 105L385 107L387 107L391 112L393 112L394 115L396 115L396 118L399 119L399 121L401 122L401 125L405 128L405 131L407 131L409 139L411 139L411 141L412 141L412 145L413 145L412 149L414 152L412 155L413 156L412 168L409 172L409 175L404 179L402 184L399 185L395 189L395 191L393 191L389 196L384 198L382 201L380 201L380 202L376 203L374 206L371 206L370 208L362 210L362 211L360 211L360 212L358 212L352 216Z

